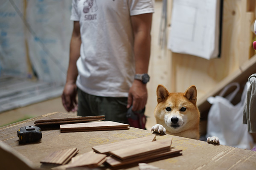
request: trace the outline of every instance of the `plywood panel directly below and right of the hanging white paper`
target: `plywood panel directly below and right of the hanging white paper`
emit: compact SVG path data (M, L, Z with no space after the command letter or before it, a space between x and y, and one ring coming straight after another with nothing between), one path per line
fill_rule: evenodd
M246 7L246 0L224 0L220 58L207 60L186 54L172 54L176 72L175 91L184 91L193 84L198 89L198 98L201 98L250 58L250 25L254 18Z

